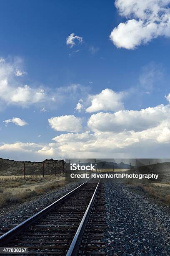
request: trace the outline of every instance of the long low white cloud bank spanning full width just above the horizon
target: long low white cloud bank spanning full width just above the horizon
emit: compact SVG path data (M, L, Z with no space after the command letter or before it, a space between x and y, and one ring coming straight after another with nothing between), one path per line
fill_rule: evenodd
M67 133L52 139L54 143L3 143L1 155L18 158L25 153L41 160L47 157L70 158L161 158L169 157L170 119L143 131ZM154 148L154 150L153 150ZM5 153L6 152L6 153ZM15 153L16 152L16 153ZM14 157L15 156L15 157ZM20 159L19 159L20 160Z

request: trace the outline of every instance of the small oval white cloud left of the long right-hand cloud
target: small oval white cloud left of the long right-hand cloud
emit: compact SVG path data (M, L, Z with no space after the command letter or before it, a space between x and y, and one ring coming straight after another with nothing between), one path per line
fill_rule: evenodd
M79 132L82 130L82 120L74 115L62 115L48 119L55 131Z

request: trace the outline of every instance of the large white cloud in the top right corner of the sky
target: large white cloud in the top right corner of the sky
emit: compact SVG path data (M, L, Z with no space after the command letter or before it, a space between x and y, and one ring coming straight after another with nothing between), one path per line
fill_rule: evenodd
M110 34L118 48L135 49L158 36L170 37L170 0L116 0L115 6L128 20Z

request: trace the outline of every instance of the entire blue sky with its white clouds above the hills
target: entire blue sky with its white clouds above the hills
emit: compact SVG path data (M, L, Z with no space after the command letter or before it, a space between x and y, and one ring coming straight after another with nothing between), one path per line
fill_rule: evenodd
M0 157L168 157L169 2L2 0Z

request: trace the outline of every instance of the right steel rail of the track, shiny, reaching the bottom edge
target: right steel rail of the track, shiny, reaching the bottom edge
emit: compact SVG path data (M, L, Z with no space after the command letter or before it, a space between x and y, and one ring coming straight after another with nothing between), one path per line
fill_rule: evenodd
M80 225L79 227L77 228L77 231L75 233L75 236L72 240L72 243L70 244L70 247L67 251L67 254L66 256L75 256L77 255L77 250L79 248L79 245L80 245L80 241L81 241L81 238L82 238L82 235L84 233L84 229L86 227L86 224L87 224L87 220L89 218L89 215L90 215L90 212L92 210L92 206L94 204L94 201L95 201L95 198L96 198L96 195L97 195L97 192L99 191L99 184L100 184L100 180L95 188L95 192L93 193L92 195L92 198L90 200L90 203L89 205L87 206L87 209L85 211L85 214L84 216L82 217L82 220L80 222Z

